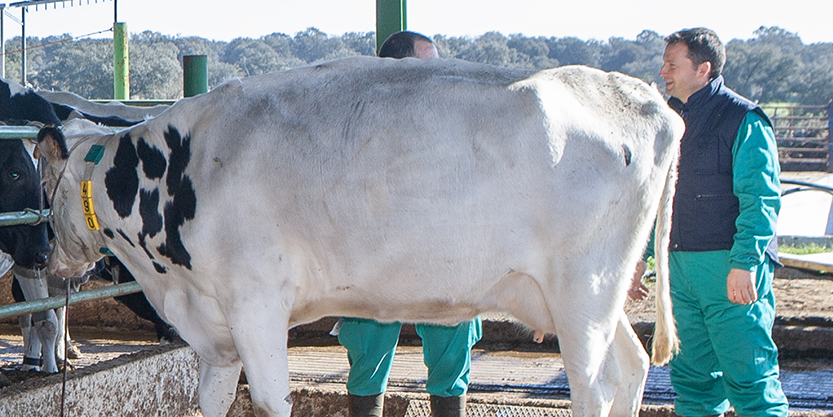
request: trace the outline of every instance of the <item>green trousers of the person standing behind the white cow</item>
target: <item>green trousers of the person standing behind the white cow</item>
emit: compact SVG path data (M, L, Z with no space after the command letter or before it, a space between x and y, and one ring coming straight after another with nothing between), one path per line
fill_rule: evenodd
M348 393L367 396L386 391L401 328L401 323L344 318L338 341L347 348L350 362ZM471 372L470 351L483 336L480 317L456 326L417 324L416 331L422 338L428 367L428 393L438 397L464 395Z

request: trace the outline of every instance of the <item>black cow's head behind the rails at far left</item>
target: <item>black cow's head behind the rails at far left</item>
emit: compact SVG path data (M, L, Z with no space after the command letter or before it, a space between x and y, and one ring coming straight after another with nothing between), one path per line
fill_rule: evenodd
M43 191L32 157L20 140L0 140L0 212L38 209ZM0 251L27 269L46 262L46 224L0 227Z

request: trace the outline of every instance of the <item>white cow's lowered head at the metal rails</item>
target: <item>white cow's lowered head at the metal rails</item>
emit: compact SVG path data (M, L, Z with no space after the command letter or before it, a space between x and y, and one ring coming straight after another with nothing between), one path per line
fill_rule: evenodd
M48 126L38 133L37 153L46 159L44 179L55 232L48 269L60 277L81 276L103 256L100 232L87 227L81 203L84 155L70 155L69 151L74 143L102 133L86 121L66 124L63 130ZM72 162L78 162L76 170L70 166Z

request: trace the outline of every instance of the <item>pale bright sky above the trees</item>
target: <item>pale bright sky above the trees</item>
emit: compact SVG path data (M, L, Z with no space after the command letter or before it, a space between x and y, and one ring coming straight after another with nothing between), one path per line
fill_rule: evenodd
M2 0L0 0L2 1ZM71 5L72 3L72 5ZM708 27L728 42L753 38L761 26L778 26L805 44L833 42L833 1L723 0L408 0L407 28L426 35L477 37L489 31L504 35L636 39L643 30L665 36L690 27ZM21 16L6 3L6 13ZM114 19L114 0L66 0L29 7L26 35L79 37L106 30ZM294 35L309 27L335 36L376 30L374 0L118 0L117 17L130 33L146 30L165 35L199 36L229 41L274 32ZM20 35L20 25L4 19L6 39ZM110 37L109 33L95 37Z

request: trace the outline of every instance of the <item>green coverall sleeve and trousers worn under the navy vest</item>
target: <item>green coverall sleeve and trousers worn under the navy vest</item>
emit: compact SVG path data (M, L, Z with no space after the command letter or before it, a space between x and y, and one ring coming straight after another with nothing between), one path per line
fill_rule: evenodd
M731 250L671 252L671 299L680 352L669 364L681 416L787 416L772 341L774 264L765 250L780 210L780 168L769 124L746 115L732 148L734 194L740 201ZM732 268L755 271L758 300L729 301Z

